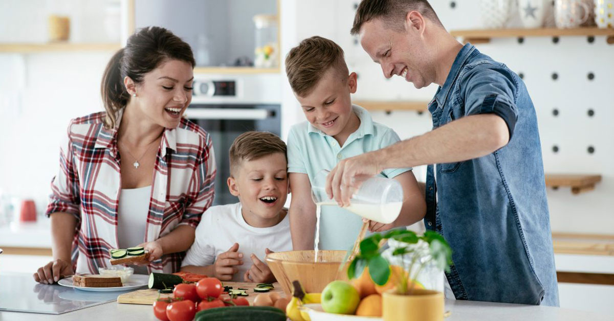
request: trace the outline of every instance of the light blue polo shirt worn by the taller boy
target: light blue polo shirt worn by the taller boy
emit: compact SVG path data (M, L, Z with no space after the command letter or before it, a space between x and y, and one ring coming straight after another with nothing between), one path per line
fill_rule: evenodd
M343 147L332 136L324 134L309 122L290 128L288 136L288 172L309 176L313 184L322 169L333 169L340 160L382 149L400 141L391 128L373 122L364 108L352 105L360 119L358 130L350 134ZM392 178L411 168L384 169L378 176ZM337 206L322 206L320 217L321 250L348 250L354 245L362 227L362 217Z

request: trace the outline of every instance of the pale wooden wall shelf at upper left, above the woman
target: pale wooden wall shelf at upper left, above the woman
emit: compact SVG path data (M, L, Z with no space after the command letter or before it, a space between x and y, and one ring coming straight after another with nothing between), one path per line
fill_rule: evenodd
M122 48L115 43L74 43L49 42L46 44L0 44L0 52L6 53L37 53L37 52L82 52L111 51Z

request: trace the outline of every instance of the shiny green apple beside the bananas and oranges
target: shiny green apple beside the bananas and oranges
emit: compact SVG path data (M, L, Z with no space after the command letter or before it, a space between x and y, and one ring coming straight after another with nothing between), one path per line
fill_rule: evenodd
M360 302L360 295L348 282L336 280L322 290L321 301L325 312L354 314Z

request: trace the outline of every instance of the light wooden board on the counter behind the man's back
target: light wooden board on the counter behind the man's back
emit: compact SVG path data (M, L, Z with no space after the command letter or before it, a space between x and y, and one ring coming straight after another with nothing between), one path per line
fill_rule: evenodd
M614 256L614 235L552 233L554 253Z

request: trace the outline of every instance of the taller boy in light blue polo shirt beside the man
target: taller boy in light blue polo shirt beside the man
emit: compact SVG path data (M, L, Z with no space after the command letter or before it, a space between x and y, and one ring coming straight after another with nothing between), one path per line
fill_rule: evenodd
M374 123L367 110L352 105L350 94L356 92L357 75L349 74L343 49L335 42L317 36L303 40L288 53L286 74L307 118L292 126L288 137L292 246L306 250L314 248L316 205L311 200L311 182L317 172L400 139L390 128ZM398 180L405 201L395 222L369 222L370 231L407 226L424 218L426 203L411 168L386 169L380 176ZM361 226L359 215L336 206L322 207L319 249L350 249Z

